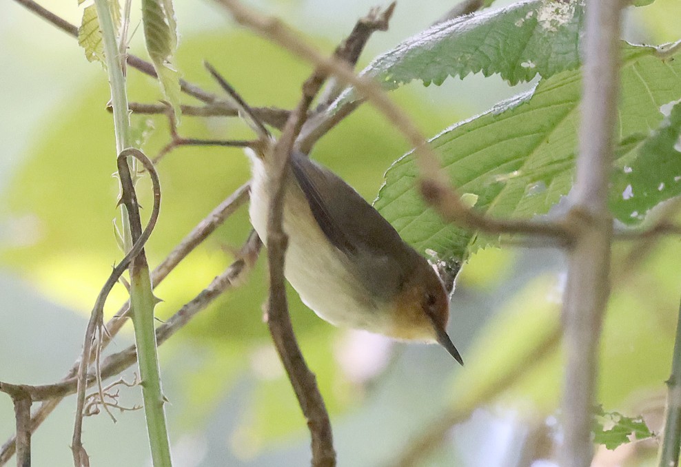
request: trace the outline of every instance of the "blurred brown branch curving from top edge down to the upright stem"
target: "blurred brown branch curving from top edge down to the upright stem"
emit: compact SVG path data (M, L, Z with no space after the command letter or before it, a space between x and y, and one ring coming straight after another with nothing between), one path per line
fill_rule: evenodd
M431 147L425 144L423 134L409 116L385 95L378 84L357 76L346 63L333 57L324 56L315 48L307 45L298 34L278 19L257 14L236 0L216 1L228 8L238 23L251 28L294 55L314 64L318 70L332 74L340 81L353 85L360 96L367 98L378 111L383 113L387 120L395 125L415 148L414 154L419 169L421 187L426 198L445 219L471 230L553 237L563 243L571 241L573 233L569 222L504 220L490 218L475 209L470 209L449 187L449 181L440 169L438 158Z

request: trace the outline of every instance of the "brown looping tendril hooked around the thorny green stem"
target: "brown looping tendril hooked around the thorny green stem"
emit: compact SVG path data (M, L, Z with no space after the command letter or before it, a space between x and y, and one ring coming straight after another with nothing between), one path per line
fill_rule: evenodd
M97 299L94 303L94 307L92 308L90 321L88 322L88 328L85 331L83 352L81 353L81 362L78 369L79 384L76 399L76 418L74 422L71 446L76 459L81 459L81 456L84 453L83 444L81 442L81 434L83 430L83 407L85 406L85 387L87 386L86 379L94 335L99 329L101 329L101 326L103 325L102 319L104 303L106 302L109 292L111 289L113 289L116 282L118 282L119 277L121 277L125 270L128 269L130 263L133 262L133 260L143 251L145 243L147 240L149 240L149 237L154 230L156 220L159 218L159 210L161 209L161 183L159 182L159 174L156 172L151 160L149 160L147 156L139 151L139 149L129 147L124 149L121 154L119 154L117 160L119 161L119 176L121 176L121 183L123 183L127 178L130 185L132 185L132 180L130 180L130 172L128 172L126 176L125 171L121 170L121 167L123 166L125 169L128 168L128 157L134 157L139 160L139 162L142 163L144 168L149 172L154 193L154 205L152 207L152 213L150 215L147 227L145 227L144 231L141 231L141 225L139 225L139 209L134 209L132 206L136 205L134 189L132 190L132 193L130 193L130 190L128 189L123 189L122 191L123 194L121 195L121 199L128 207L128 214L130 214L131 217L133 216L133 213L136 214L136 220L138 221L133 222L130 226L133 232L133 237L136 238L136 241L134 242L134 245L130 251L128 251L128 254L125 255L123 260L121 260L121 262L114 267L114 270L112 271L108 280L105 282L104 287L102 287L101 291L99 292L99 295L97 296ZM101 340L99 342L101 342Z

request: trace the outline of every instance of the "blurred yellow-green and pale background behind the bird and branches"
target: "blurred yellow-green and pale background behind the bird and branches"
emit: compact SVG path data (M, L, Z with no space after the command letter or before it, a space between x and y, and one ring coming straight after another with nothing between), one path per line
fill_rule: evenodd
M75 1L43 6L79 23ZM508 2L506 2L508 3ZM498 2L498 6L504 2ZM363 0L261 0L255 6L283 17L331 51L374 3ZM453 3L403 0L389 32L369 42L363 62L435 21ZM181 34L179 69L217 92L203 70L210 61L252 105L291 107L310 72L307 64L237 28L208 1L176 1ZM627 10L626 37L662 43L681 37L681 3L658 0ZM0 380L43 384L58 380L79 354L85 321L110 265L121 258L113 235L118 193L108 84L74 39L11 1L0 5ZM143 55L141 30L132 52ZM132 101L160 98L154 81L129 70ZM441 87L414 83L392 95L423 132L487 110L529 85L508 87L496 77L449 79ZM187 98L187 102L191 100ZM153 155L168 141L163 118L134 116L155 130L144 149ZM245 136L242 123L183 118L183 136ZM409 149L369 108L325 137L314 158L372 200L385 169ZM182 148L159 165L161 219L148 244L152 267L199 220L248 178L240 151ZM142 204L150 206L141 184ZM230 264L249 226L241 209L194 251L157 289L159 318L172 315ZM645 415L656 429L669 374L680 293L677 240L660 242L631 262L634 245L615 251L614 294L602 344L600 396L604 408ZM292 318L303 353L317 374L332 415L340 466L391 466L403 450L451 413L445 444L417 465L528 466L551 458L562 362L551 341L560 311L562 258L550 250L489 249L465 266L451 302L449 331L465 368L436 346L405 346L316 318L292 291ZM197 316L161 347L167 417L176 466L298 466L309 459L305 422L263 324L267 278L264 258L243 287ZM114 289L108 313L125 298ZM126 327L110 346L132 342ZM529 349L540 351L528 357ZM498 381L515 371L511 380ZM131 372L127 373L131 375ZM125 404L139 402L123 391ZM491 401L480 402L487 394ZM33 438L35 465L70 465L74 401L66 399ZM474 410L469 410L469 408ZM0 397L0 442L13 433L9 397ZM141 412L85 421L84 442L96 466L148 465ZM547 447L548 446L548 447ZM543 449L543 450L542 450ZM535 452L529 455L530 452ZM624 454L623 454L624 453ZM602 464L625 456L647 465L654 444L601 453ZM529 459L529 460L528 460ZM548 461L536 466L551 465Z

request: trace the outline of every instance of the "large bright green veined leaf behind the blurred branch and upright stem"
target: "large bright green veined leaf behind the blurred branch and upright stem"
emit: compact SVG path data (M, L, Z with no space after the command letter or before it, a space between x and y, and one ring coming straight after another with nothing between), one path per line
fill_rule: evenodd
M661 59L654 48L624 48L618 164L658 127L660 105L681 98L680 73L681 61ZM542 79L534 92L446 129L430 145L452 185L478 196L481 212L507 218L546 214L572 185L580 95L580 73L562 72ZM417 176L414 156L406 154L388 169L375 203L407 242L454 260L498 244L498 238L443 222L421 200Z

